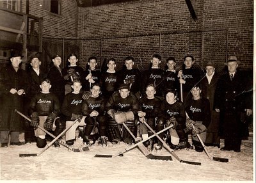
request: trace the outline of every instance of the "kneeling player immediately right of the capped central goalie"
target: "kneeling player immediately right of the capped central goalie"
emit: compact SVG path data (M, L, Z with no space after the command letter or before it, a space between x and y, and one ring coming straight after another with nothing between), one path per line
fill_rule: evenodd
M140 111L138 111L140 120L144 117L145 120L147 120L148 125L150 125L154 131L156 130L156 118L159 115L159 107L161 105L161 100L155 98L155 94L156 88L154 87L154 84L148 84L146 88L147 96L144 96L139 100ZM140 123L140 134L142 139L145 139L148 138L148 136L151 136L153 132L148 130L143 123ZM149 150L153 150L154 139L150 139L145 145Z

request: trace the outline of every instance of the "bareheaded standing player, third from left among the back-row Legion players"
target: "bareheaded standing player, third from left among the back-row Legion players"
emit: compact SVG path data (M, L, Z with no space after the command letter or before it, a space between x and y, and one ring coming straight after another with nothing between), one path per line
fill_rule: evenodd
M100 84L102 86L102 95L105 99L109 97L116 91L118 87L117 74L115 71L116 63L114 58L110 58L107 61L108 70L102 74Z

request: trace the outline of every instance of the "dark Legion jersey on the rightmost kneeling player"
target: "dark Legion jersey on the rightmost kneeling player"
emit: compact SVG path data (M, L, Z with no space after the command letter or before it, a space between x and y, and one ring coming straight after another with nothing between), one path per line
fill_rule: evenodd
M211 109L208 99L188 100L186 102L186 112L191 120L202 121L205 127L208 127L211 122Z

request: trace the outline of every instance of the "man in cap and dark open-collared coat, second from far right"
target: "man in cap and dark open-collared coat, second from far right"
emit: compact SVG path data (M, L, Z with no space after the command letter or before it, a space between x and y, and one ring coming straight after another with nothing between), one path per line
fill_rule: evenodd
M217 113L213 107L214 93L220 76L215 72L215 66L212 61L207 62L205 70L205 77L201 81L202 97L209 100L211 107L211 122L207 128L205 144L208 146L220 147L220 137L218 136L220 113Z

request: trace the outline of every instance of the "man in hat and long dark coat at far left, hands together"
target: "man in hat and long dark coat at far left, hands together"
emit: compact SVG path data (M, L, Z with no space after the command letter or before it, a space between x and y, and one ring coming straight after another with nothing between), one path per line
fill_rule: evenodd
M10 145L24 145L19 141L19 133L23 130L23 119L15 113L15 109L23 111L24 96L28 91L28 75L19 65L22 54L11 52L11 65L0 71L0 132L1 147L8 147L9 132Z

